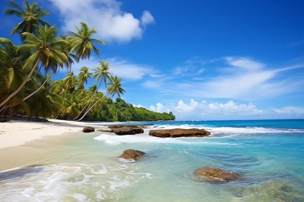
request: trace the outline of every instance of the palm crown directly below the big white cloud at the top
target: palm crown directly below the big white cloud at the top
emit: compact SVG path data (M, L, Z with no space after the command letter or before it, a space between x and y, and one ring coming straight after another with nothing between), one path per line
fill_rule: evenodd
M100 51L93 45L93 43L100 43L104 45L104 42L99 39L91 39L90 37L92 34L96 33L97 31L94 28L89 29L87 24L84 22L80 22L80 24L80 28L74 26L77 32L69 31L71 36L67 37L67 40L72 43L71 52L75 52L75 55L79 59L89 59L92 50L99 55Z

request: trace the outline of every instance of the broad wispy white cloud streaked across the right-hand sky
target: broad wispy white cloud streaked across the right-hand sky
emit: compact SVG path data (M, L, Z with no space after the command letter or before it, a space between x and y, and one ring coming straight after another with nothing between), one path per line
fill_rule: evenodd
M160 88L152 90L175 93L176 96L182 94L188 99L228 98L253 101L292 93L304 85L303 79L287 78L283 74L288 70L303 68L304 64L267 68L266 64L247 57L225 57L222 62L226 63L226 66L221 64L222 67L217 68L218 71L213 70L212 63L204 64L204 74L200 75L204 78L202 80L197 79L198 76L188 77L186 80L178 79L178 75L183 76L183 67L180 66L175 71L179 74L175 74L174 80L153 80ZM191 67L185 65L185 72L190 72L190 75L193 70ZM208 72L212 72L212 75Z

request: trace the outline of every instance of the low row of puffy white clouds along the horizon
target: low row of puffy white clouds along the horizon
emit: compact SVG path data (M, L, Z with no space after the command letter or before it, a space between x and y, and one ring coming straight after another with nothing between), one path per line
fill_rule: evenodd
M171 111L177 120L237 120L273 117L295 118L304 116L304 107L284 107L282 109L258 109L253 103L237 104L233 100L227 102L211 102L205 100L197 102L191 99L189 103L180 100L176 105L165 106L157 103L157 107L150 106L150 110L157 112Z

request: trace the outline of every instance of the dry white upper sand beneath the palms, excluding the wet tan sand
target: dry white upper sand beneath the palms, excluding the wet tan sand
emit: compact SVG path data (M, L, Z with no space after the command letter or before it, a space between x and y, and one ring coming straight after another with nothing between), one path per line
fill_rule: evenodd
M93 125L84 122L54 119L50 119L49 122L32 122L25 120L1 122L0 149L19 146L28 141L41 139L43 136L61 135L66 132L80 132L85 126ZM100 128L107 129L106 126L102 125L100 125Z

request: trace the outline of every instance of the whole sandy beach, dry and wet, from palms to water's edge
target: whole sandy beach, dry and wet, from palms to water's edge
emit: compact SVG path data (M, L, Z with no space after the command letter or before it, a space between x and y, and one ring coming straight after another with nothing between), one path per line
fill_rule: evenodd
M39 154L44 148L52 146L55 136L68 134L85 134L85 126L93 122L74 122L48 119L47 122L30 121L27 118L14 118L8 122L0 122L0 171L19 166L27 166L32 161L40 161ZM105 123L106 124L106 123ZM97 129L108 129L105 124L94 125ZM63 138L63 137L62 137Z

